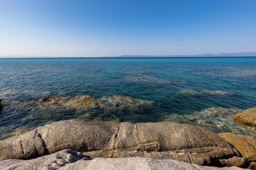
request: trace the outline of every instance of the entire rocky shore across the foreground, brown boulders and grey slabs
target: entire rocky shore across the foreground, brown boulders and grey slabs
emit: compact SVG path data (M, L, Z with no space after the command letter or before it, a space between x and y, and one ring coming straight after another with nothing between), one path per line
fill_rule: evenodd
M23 170L24 163L42 170L73 166L90 169L92 165L94 169L95 165L96 169L115 166L179 169L179 165L188 170L215 168L205 166L256 170L256 138L216 134L200 126L166 121L137 124L84 119L58 121L1 140L0 152L0 167L6 170L13 167Z

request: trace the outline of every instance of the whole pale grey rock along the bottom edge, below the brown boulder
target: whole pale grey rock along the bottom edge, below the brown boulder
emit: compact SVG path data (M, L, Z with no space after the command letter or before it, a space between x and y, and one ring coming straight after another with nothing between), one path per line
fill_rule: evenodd
M95 158L74 150L61 150L51 155L31 160L9 159L0 161L1 170L242 170L238 167L216 168L185 162L155 160L144 157Z

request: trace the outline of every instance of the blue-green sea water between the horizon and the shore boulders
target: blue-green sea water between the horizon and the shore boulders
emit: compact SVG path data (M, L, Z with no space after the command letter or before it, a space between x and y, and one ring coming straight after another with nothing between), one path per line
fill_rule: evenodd
M219 109L256 106L256 57L0 59L0 79L0 139L74 118L176 121L256 136L255 127L233 120L239 110ZM93 112L26 105L47 95L120 95L154 104Z

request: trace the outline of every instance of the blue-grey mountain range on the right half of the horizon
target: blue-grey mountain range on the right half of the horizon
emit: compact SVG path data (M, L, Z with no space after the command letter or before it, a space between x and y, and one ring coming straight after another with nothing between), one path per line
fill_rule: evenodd
M248 53L220 53L220 54L196 54L196 55L121 55L115 57L256 57L256 52Z

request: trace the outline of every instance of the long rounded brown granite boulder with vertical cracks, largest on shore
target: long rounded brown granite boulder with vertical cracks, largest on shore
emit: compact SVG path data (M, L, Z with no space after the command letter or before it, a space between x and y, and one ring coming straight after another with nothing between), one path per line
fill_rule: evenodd
M0 141L0 160L31 159L63 149L92 158L143 156L198 165L214 165L216 160L238 156L222 137L199 126L74 119Z

